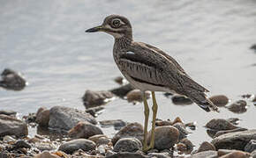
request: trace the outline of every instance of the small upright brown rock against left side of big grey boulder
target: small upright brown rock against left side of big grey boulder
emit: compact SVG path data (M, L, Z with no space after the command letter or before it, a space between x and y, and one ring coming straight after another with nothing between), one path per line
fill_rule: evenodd
M39 126L48 126L49 124L49 110L45 107L41 107L36 112L35 122L38 123Z

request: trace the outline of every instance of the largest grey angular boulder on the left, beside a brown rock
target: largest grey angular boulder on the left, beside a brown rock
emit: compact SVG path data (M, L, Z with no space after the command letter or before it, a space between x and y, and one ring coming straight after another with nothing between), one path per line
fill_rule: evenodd
M54 129L70 130L79 121L87 121L96 125L96 119L85 111L79 111L64 106L54 106L49 110L49 127Z

